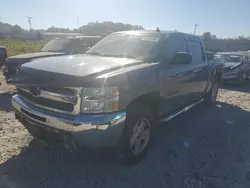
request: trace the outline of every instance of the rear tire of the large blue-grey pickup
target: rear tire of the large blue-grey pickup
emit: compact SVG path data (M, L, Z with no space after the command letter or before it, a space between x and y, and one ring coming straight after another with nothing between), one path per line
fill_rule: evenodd
M214 80L214 83L213 83L211 90L204 97L204 102L206 105L216 104L216 98L217 98L218 91L219 91L219 85L220 85L220 81L219 81L219 79L216 78Z

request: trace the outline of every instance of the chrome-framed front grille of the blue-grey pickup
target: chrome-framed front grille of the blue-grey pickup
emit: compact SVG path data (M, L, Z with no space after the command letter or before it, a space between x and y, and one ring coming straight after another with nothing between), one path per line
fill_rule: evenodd
M17 87L17 93L30 105L59 112L77 115L80 112L81 88Z

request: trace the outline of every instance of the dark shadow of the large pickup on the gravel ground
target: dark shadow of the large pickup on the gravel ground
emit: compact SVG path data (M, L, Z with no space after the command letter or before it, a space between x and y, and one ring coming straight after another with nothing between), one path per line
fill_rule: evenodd
M222 174L223 185L230 187L234 179L228 177L236 173L233 160L243 155L239 137L247 139L250 132L247 122L249 112L239 107L200 104L159 125L148 155L134 166L116 162L112 151L72 154L30 143L0 165L0 185L4 177L18 187L176 187L185 185L187 176L197 181L205 176L208 185L208 177L220 168L216 177ZM230 154L234 151L237 155Z

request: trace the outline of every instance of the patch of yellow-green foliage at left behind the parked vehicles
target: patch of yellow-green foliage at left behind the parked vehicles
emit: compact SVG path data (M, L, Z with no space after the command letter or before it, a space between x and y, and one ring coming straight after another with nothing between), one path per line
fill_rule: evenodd
M46 41L22 41L18 39L0 39L0 46L8 50L8 56L17 54L39 52Z

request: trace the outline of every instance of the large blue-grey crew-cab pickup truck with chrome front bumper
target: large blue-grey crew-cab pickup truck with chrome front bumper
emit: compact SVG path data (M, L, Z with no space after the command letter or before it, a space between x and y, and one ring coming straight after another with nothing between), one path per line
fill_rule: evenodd
M138 162L159 122L216 103L222 69L197 36L116 32L84 55L22 65L12 105L34 137L73 149L117 146Z

